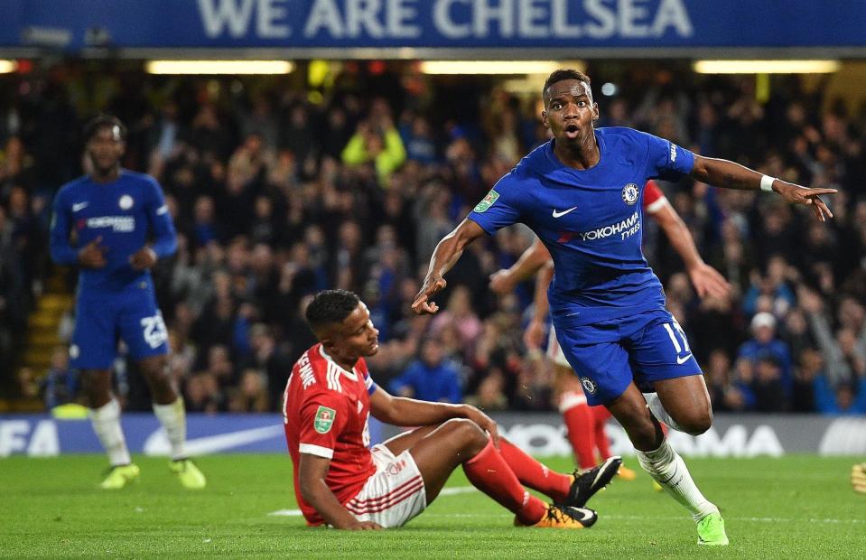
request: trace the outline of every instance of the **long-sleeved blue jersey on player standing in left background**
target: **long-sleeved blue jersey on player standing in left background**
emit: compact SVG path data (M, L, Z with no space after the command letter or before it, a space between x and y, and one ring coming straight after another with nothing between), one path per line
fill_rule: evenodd
M51 258L75 265L80 248L100 236L107 247L107 264L81 268L79 290L119 291L142 281L152 285L150 272L135 270L129 258L145 243L151 243L157 257L172 255L177 248L159 183L150 175L124 169L114 182L98 183L85 175L63 185L54 197Z

